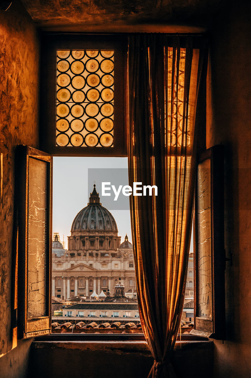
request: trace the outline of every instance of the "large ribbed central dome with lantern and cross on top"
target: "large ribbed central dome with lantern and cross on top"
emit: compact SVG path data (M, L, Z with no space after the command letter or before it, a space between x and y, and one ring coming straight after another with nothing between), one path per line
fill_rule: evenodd
M88 205L83 208L75 217L71 231L78 230L106 230L116 231L118 228L110 211L101 206L100 198L94 184L93 192L90 194Z

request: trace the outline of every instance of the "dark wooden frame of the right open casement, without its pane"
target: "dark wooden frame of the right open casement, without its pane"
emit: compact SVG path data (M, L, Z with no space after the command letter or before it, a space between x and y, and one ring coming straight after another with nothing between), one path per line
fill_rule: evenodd
M211 292L212 319L198 316L198 218L197 176L194 201L194 329L192 335L225 339L225 249L224 249L224 150L213 146L198 156L197 164L210 160Z

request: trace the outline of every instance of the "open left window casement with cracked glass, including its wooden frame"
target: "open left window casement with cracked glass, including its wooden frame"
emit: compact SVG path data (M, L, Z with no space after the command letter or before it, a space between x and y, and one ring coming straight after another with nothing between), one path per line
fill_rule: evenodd
M18 148L18 338L51 331L52 157Z

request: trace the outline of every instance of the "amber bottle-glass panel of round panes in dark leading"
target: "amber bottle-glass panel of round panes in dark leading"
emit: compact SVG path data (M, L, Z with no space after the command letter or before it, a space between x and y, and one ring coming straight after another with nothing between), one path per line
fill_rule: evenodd
M56 145L113 147L114 50L57 50Z

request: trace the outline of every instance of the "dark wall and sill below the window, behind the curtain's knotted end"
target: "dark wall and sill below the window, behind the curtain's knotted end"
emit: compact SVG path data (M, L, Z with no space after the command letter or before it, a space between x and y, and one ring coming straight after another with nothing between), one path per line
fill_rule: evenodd
M144 335L88 336L59 334L35 338L31 349L32 376L44 378L48 371L54 378L61 378L62 372L64 378L71 378L73 373L75 378L83 378L83 371L89 378L110 378L118 373L121 378L148 375L153 357ZM200 378L201 371L208 366L204 378L211 378L213 341L188 336L177 341L174 348L172 364L177 375Z

